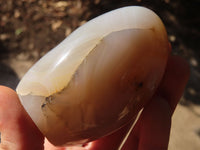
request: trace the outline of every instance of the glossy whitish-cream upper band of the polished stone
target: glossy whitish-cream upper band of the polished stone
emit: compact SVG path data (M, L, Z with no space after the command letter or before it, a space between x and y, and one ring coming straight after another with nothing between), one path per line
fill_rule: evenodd
M150 29L161 42L167 40L165 27L153 11L138 6L113 10L79 27L41 58L22 78L17 93L49 96L60 92L105 36L126 29Z

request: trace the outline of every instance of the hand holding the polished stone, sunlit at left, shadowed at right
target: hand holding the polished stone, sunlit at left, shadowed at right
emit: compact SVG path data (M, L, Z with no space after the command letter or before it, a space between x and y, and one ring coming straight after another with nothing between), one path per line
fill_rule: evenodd
M163 80L125 142L123 150L167 150L171 117L189 78L189 66L171 56ZM56 148L38 130L15 91L0 86L0 131L2 150L112 150L117 149L130 124L85 147Z

